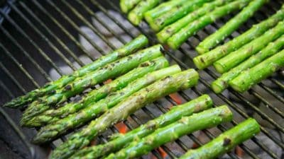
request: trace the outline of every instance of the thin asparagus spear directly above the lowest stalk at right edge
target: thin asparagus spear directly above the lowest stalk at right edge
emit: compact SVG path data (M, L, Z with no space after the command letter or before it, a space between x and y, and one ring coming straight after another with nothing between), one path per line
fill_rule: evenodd
M234 69L231 69L230 71L222 74L221 77L217 78L217 80L212 83L212 89L215 93L222 93L222 91L229 86L229 81L238 76L241 71L249 69L252 66L255 66L256 64L259 64L264 59L271 57L273 54L279 52L280 49L282 49L283 47L284 35L279 37L278 40L271 42L257 54L252 55L249 59L246 59L246 61L234 67Z

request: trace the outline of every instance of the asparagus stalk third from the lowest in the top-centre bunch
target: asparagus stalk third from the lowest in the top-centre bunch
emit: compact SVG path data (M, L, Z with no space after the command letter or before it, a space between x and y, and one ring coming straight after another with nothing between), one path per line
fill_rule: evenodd
M182 18L183 16L187 15L191 11L202 6L207 1L212 0L192 0L192 1L185 1L183 4L178 4L173 7L167 13L163 13L163 15L155 18L153 21L147 21L151 28L155 31L159 31L163 29L165 26L169 25L170 23L175 22L176 20ZM147 19L146 19L147 20Z

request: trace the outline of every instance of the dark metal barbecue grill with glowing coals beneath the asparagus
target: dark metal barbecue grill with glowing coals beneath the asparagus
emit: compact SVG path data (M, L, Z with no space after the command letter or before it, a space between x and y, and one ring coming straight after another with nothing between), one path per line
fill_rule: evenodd
M226 40L244 33L251 25L272 15L283 2L270 1ZM151 45L156 44L155 34L148 25L145 22L137 27L131 25L120 13L118 3L109 0L0 1L0 105L72 72L141 33L149 38ZM179 64L183 69L195 68L192 62L197 55L195 47L231 16L234 14L207 26L176 51L165 47L164 54L172 64ZM184 136L143 158L177 158L248 117L257 119L261 124L261 133L222 158L284 158L283 72L279 71L246 93L229 89L219 95L209 88L219 74L212 67L199 73L198 86L147 105L125 122L111 127L94 143L106 142L108 136L121 131L121 127L133 129L167 112L173 105L208 93L215 105L229 105L234 112L234 120L217 128ZM70 100L76 100L79 96ZM18 126L21 110L0 107L0 112L0 158L47 158L50 151L69 136L62 136L48 145L35 146L29 140L36 129Z

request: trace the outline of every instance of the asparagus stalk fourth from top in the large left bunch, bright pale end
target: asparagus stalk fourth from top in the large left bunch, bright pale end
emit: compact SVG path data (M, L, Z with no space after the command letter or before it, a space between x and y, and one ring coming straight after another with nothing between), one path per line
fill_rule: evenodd
M90 119L94 119L94 117L97 117L99 114L107 112L111 107L114 107L114 105L129 97L129 95L135 93L141 88L150 85L160 78L177 73L179 71L180 67L175 65L148 73L148 75L144 76L143 78L139 78L137 81L130 83L126 88L109 95L103 100L99 100L99 102L84 108L82 111L76 114L70 114L63 119L58 120L58 122L43 127L43 129L40 129L37 136L35 136L34 141L35 143L43 143L55 139L60 134L64 134L67 130L80 126L85 122L89 122Z

